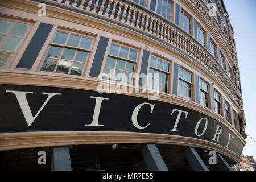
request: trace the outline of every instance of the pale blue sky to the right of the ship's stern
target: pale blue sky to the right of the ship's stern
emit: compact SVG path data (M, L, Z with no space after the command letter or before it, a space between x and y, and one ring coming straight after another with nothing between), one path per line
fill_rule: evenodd
M224 0L234 29L240 68L243 106L247 119L245 132L256 141L256 0ZM246 138L243 155L256 160L256 143Z

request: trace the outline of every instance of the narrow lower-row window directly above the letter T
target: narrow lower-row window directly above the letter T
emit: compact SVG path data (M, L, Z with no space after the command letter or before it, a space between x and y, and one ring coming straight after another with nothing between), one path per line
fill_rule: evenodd
M180 68L179 71L179 94L191 98L192 75Z

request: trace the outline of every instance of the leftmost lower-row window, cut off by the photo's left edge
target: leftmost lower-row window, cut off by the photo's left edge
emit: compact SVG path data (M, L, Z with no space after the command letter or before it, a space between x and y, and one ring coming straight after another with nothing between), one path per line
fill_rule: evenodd
M0 19L0 67L9 65L29 28L27 23Z

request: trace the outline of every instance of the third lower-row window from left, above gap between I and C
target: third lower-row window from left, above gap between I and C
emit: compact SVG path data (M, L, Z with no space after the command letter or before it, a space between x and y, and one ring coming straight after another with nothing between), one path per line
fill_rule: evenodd
M131 84L138 51L112 43L104 68L104 79Z

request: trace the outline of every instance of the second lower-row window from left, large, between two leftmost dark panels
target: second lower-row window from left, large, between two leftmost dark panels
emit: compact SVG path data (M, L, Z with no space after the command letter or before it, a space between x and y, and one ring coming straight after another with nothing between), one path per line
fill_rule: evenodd
M82 76L92 38L57 31L40 71Z

